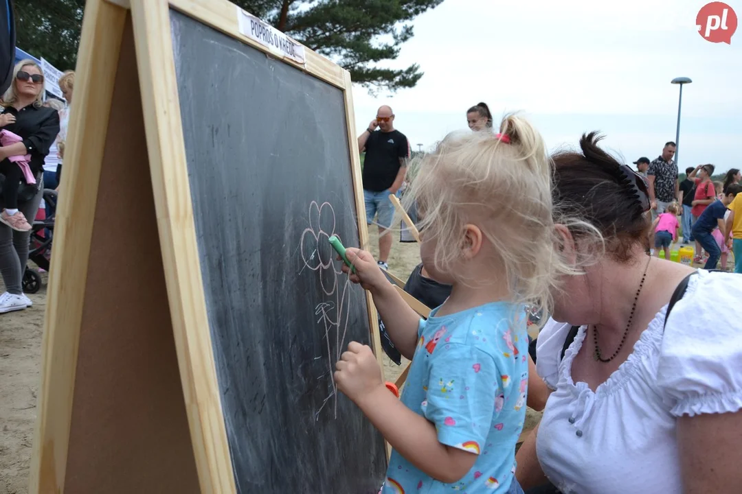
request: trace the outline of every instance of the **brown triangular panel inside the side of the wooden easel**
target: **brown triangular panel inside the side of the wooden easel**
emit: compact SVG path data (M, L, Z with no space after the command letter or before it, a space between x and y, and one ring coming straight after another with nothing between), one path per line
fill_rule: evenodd
M66 493L200 492L140 101L128 19L93 221Z

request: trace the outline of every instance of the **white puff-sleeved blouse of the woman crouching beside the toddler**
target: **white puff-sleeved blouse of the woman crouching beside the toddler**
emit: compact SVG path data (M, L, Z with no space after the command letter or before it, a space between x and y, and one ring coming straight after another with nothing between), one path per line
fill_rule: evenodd
M677 417L742 409L741 300L741 275L699 270L664 333L667 306L595 393L571 377L585 327L560 361L570 325L548 321L536 371L554 393L536 453L562 493L682 492Z

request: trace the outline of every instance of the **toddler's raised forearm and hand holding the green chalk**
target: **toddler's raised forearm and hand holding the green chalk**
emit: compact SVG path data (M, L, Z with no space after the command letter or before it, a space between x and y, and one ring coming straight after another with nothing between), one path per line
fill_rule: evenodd
M407 305L384 273L381 273L370 253L348 247L345 256L355 267L355 273L350 273L350 281L360 283L361 287L370 291L373 303L384 320L384 327L387 328L395 348L404 358L412 360L417 346L420 316ZM343 264L343 272L349 271L350 268Z

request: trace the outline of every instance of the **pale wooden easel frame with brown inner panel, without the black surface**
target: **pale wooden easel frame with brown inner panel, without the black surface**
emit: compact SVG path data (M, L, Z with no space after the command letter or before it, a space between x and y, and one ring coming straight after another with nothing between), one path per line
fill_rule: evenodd
M209 323L171 8L275 58L240 34L237 7L226 0L87 0L56 216L30 493L93 492L92 486L114 494L235 492L203 330ZM282 61L344 92L358 235L367 245L350 76L311 50L305 56L306 64ZM127 169L132 162L142 168ZM159 238L161 256L151 256L148 236ZM108 280L106 270L125 279ZM368 293L366 301L381 364ZM119 374L114 380L111 373ZM97 471L86 468L91 455L105 457Z

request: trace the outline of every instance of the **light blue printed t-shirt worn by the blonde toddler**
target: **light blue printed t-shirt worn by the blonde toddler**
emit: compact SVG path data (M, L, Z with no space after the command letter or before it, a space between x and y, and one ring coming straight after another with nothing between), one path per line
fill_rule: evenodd
M507 493L525 419L524 307L493 302L440 317L438 310L420 322L401 401L435 424L441 444L477 458L461 480L444 484L393 451L382 493Z

